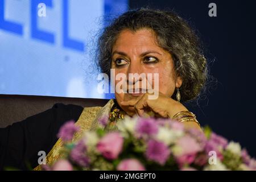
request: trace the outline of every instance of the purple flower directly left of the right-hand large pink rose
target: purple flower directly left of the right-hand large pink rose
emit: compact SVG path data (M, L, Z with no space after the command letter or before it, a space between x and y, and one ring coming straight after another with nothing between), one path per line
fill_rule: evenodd
M164 165L170 156L170 150L163 142L149 140L147 143L146 157L155 162Z

